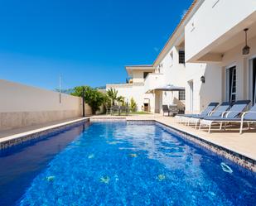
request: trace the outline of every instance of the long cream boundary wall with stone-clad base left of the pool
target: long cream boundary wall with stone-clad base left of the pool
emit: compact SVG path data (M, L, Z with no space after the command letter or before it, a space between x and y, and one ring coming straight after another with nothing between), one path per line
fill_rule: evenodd
M81 117L81 98L0 80L0 131ZM91 113L88 106L85 113Z

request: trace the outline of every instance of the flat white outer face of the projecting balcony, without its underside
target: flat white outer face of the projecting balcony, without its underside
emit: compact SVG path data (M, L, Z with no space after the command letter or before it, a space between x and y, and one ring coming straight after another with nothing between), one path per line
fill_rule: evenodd
M186 60L200 54L255 10L255 0L203 1L185 27Z

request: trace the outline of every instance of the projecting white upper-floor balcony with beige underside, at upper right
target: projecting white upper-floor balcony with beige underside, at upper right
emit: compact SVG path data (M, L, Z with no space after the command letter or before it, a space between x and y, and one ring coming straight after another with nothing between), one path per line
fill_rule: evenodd
M244 44L244 28L253 38L255 7L255 0L202 1L185 26L186 62L221 62L226 51Z

